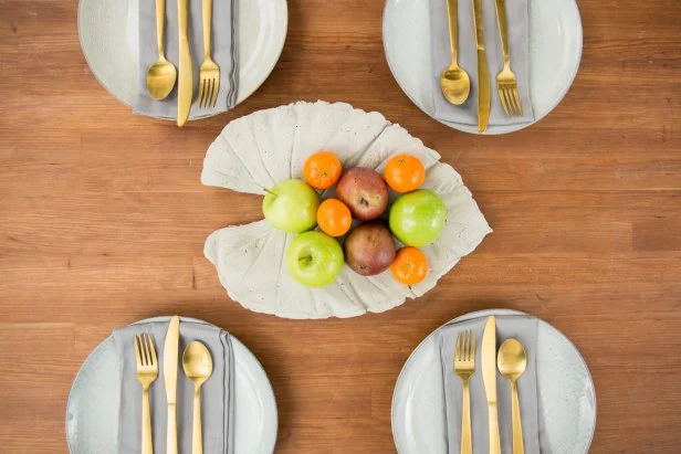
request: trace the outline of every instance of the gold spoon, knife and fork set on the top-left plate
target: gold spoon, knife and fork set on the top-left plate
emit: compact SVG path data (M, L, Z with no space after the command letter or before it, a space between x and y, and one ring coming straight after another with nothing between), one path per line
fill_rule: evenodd
M179 76L175 65L165 55L164 32L166 20L166 0L156 0L156 38L158 60L147 71L147 91L154 99L168 97L178 83L177 125L184 126L189 118L193 99L191 51L189 46L189 0L177 0L179 35ZM210 56L212 0L202 1L203 19L203 63L199 67L199 106L213 107L220 89L220 67Z

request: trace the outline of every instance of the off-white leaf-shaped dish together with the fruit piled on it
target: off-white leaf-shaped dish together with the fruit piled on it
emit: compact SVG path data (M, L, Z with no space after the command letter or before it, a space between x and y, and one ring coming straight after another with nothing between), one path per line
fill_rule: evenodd
M297 181L282 184L291 179ZM249 212L260 219L216 229L203 253L232 300L277 317L390 310L434 288L492 231L436 150L380 113L344 103L298 102L230 122L206 152L201 182L268 199L268 219ZM374 186L388 196L369 197ZM447 210L429 207L438 198ZM408 222L412 217L422 219ZM386 263L389 270L373 276L354 271L373 273ZM294 278L298 272L289 270L298 268L304 277Z

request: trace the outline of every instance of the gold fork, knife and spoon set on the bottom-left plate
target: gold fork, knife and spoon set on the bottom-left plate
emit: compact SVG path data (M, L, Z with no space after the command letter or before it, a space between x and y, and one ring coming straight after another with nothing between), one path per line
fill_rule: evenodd
M166 453L177 454L177 370L180 339L180 319L172 317L164 346L164 380L168 404L168 426ZM151 413L149 409L149 388L158 378L158 359L156 347L149 335L135 336L135 359L137 362L137 380L142 383L142 454L153 454ZM212 358L208 348L198 340L191 341L182 355L182 370L195 383L193 421L192 421L192 454L203 452L201 434L201 393L200 388L212 373Z

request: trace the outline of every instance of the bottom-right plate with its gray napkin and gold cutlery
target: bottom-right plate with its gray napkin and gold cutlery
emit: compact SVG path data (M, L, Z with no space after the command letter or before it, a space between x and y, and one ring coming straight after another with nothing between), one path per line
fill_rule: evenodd
M399 453L587 453L596 395L575 346L510 309L467 314L429 335L395 386Z

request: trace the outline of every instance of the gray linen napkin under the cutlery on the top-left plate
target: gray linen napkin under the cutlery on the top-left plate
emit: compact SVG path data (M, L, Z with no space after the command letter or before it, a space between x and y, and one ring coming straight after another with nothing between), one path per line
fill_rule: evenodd
M126 1L126 0L122 0ZM213 1L211 54L220 66L220 92L214 107L199 107L199 66L203 62L203 24L201 1L189 0L189 49L193 77L193 102L189 118L218 114L234 107L238 85L237 0ZM179 38L177 1L166 1L166 57L179 75ZM170 95L154 99L147 92L147 70L158 59L156 45L156 6L154 0L139 0L139 74L138 94L133 113L154 117L177 118L177 84Z

